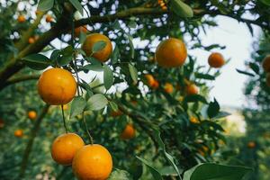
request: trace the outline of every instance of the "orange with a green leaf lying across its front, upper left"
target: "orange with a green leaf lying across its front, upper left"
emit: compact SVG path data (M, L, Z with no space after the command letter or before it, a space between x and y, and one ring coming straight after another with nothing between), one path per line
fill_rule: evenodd
M103 49L92 54L94 44L101 40L106 42L106 46ZM107 36L104 36L103 34L93 33L86 37L82 49L85 51L86 56L89 57L92 55L100 62L105 62L110 58L112 54L112 42Z

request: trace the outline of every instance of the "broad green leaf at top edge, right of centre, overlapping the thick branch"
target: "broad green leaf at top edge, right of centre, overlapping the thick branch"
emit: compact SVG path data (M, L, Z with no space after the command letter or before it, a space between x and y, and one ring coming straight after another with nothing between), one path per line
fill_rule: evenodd
M171 0L170 8L181 17L193 17L193 9L181 0Z

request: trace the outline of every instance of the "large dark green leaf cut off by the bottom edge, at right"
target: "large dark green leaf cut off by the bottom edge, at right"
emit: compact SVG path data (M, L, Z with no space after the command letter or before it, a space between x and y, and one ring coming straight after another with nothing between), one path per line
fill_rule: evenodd
M184 180L241 180L252 171L245 166L204 163L184 172Z

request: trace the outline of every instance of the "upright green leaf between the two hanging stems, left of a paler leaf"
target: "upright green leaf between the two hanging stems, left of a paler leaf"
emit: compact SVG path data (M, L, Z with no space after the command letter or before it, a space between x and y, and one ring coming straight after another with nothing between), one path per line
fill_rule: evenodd
M86 106L85 99L81 96L76 96L71 103L69 117L73 118L76 115L84 112L85 106Z

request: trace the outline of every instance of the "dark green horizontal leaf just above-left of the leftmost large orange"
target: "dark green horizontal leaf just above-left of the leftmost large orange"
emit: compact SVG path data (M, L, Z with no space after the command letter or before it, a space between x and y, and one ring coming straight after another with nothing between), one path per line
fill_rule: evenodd
M50 65L49 58L42 54L31 54L24 57L23 62L26 64L26 66L35 70L43 70Z

